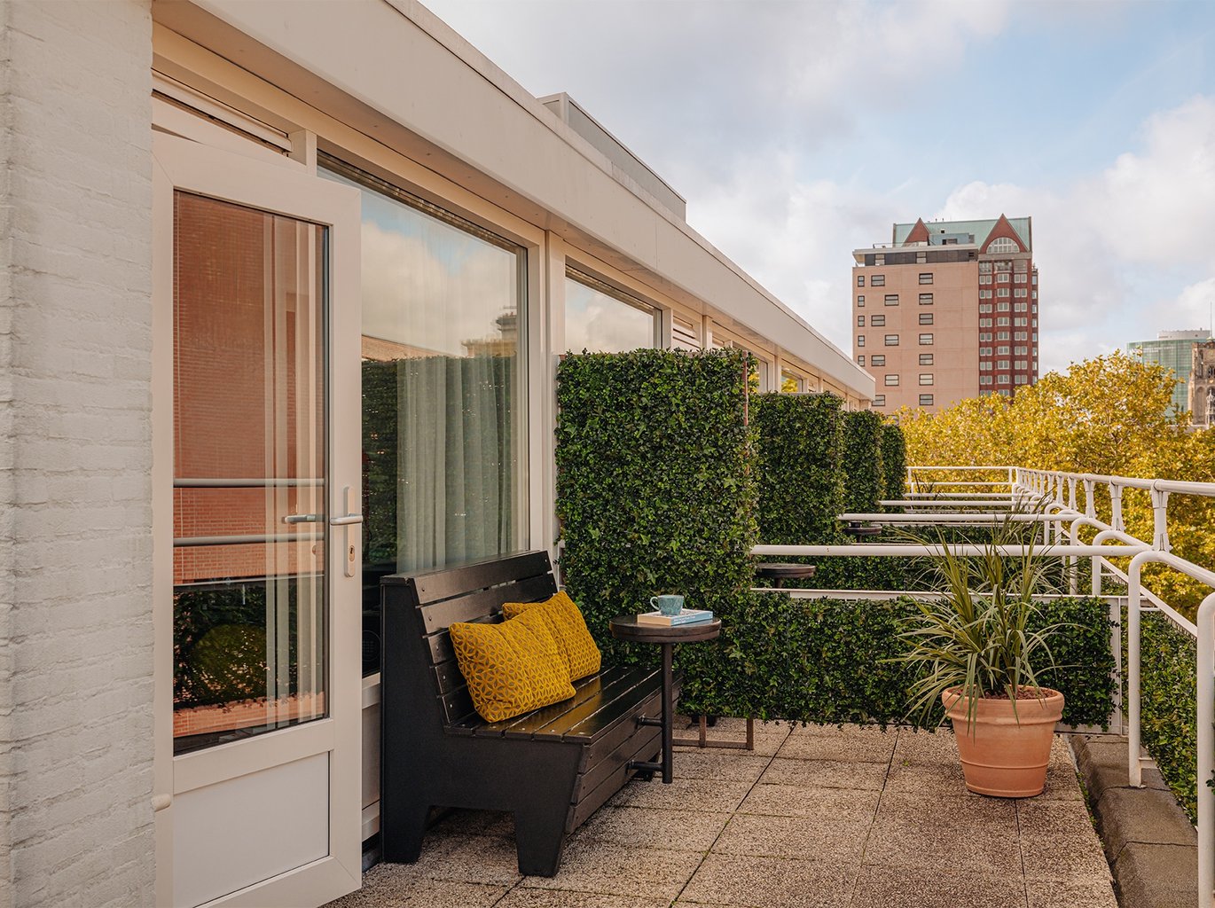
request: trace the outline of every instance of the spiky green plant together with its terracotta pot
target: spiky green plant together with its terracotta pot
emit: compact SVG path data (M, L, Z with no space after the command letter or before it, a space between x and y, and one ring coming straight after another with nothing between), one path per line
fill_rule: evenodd
M932 562L943 596L916 602L900 633L909 650L898 660L919 669L911 711L927 717L944 705L966 786L996 797L1042 791L1063 715L1063 694L1038 683L1053 667L1050 643L1063 625L1035 621L1033 596L1051 586L1049 562L1035 538L1039 524L1016 520L1018 513L1027 512L1013 508L978 555L960 554L938 532ZM1001 554L1005 545L1019 545L1019 553Z

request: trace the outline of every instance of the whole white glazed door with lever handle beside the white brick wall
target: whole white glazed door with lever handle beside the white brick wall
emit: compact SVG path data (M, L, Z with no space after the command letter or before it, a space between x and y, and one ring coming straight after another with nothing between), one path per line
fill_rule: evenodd
M322 904L360 881L358 196L156 142L158 892Z

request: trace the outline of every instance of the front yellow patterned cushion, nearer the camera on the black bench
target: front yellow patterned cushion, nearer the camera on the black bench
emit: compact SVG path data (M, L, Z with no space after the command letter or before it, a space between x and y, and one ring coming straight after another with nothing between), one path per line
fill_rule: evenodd
M565 661L541 615L497 625L457 621L448 631L473 706L486 722L573 696Z

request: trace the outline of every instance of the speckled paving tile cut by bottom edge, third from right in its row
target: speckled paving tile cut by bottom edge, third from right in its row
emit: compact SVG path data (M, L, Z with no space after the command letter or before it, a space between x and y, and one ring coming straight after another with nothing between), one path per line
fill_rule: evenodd
M708 855L677 904L846 908L855 864Z

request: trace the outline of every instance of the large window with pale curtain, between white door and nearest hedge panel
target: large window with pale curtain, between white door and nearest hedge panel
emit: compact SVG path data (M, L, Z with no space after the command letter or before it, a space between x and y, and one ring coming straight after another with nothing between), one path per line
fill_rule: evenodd
M383 575L526 546L526 256L324 163L326 176L362 192L363 591L374 635ZM364 671L378 654L368 641Z

